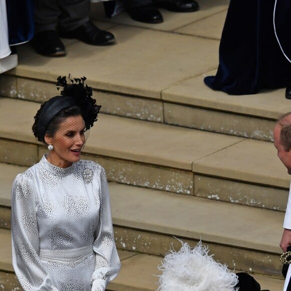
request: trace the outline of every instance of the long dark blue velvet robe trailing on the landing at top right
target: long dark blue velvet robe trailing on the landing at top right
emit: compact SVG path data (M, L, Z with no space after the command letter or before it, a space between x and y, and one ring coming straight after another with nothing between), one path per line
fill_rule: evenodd
M291 58L290 2L277 0L275 27ZM274 33L274 4L275 0L230 1L219 47L219 67L216 76L204 79L207 86L242 95L291 83L291 64Z

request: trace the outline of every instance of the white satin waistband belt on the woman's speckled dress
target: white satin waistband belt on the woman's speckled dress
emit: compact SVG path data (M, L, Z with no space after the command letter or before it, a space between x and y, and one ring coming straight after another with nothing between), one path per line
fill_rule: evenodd
M74 267L92 254L92 245L62 250L41 249L40 259L42 261L56 262L66 266Z

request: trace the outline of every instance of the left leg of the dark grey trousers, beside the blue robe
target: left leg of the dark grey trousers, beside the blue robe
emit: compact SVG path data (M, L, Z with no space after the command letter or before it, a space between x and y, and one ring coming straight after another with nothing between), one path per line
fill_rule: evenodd
M35 33L56 30L60 14L58 0L35 0Z

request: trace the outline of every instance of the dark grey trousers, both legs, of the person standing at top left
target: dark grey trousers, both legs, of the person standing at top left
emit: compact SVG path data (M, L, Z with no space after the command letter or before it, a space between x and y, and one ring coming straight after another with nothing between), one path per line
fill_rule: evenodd
M35 32L74 30L89 21L90 0L35 0Z

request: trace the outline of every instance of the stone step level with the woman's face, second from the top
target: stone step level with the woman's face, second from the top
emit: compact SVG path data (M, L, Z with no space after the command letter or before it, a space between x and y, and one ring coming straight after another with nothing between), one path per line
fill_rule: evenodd
M38 108L0 98L0 162L32 166L47 152L31 130ZM289 176L271 142L101 114L83 158L101 164L114 182L279 211L286 206Z

